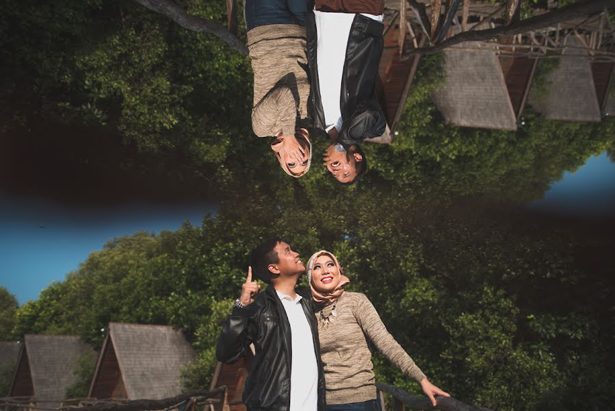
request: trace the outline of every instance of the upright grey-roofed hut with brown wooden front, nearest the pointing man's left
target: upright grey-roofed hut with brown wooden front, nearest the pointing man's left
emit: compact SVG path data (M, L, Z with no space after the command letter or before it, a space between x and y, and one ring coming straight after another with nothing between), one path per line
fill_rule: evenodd
M167 325L109 323L88 397L163 399L181 393L181 367L195 353Z

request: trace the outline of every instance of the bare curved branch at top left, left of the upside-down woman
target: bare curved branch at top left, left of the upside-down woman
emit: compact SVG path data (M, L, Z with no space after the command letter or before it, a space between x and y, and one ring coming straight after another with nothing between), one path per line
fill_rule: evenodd
M240 53L248 54L248 47L239 38L229 33L226 27L215 21L205 20L187 14L179 5L172 0L134 0L145 8L167 16L175 23L193 32L207 32L220 37L226 44Z

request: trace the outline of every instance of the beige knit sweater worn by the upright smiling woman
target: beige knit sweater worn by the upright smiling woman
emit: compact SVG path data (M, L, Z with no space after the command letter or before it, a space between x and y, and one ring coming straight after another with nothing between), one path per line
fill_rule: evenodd
M328 314L331 308L324 308L324 313ZM417 382L425 378L421 369L389 334L364 294L345 292L337 301L335 311L337 316L326 329L320 321L318 327L327 404L376 399L374 365L366 337L406 375ZM320 312L316 313L316 318L320 319Z

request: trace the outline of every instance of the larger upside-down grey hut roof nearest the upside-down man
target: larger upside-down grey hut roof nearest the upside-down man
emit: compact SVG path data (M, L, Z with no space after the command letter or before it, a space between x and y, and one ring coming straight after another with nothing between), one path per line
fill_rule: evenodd
M486 43L465 42L444 51L445 84L433 100L448 123L464 127L516 129L501 65Z

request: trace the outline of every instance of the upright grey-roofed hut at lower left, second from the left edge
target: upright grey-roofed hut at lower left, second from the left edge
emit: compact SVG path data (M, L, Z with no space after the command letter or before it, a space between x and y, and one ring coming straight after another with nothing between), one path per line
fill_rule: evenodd
M78 336L26 335L11 384L10 397L62 401L77 381L75 367L92 348Z

